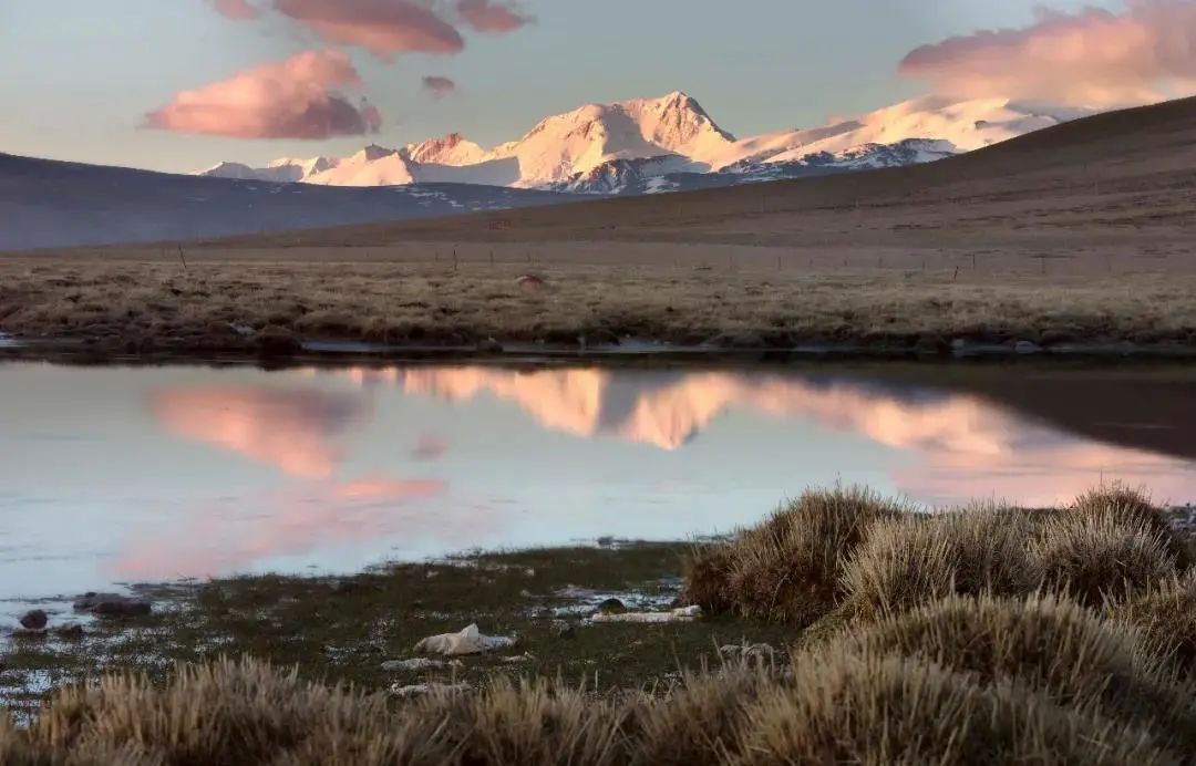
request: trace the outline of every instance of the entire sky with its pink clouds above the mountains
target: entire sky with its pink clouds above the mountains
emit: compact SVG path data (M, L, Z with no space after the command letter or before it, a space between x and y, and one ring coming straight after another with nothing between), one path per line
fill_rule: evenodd
M0 152L190 172L682 90L739 136L1196 82L1196 0L2 0Z

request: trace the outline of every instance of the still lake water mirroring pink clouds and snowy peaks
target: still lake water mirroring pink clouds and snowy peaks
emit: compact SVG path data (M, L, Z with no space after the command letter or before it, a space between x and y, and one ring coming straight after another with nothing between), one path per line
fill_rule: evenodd
M0 364L0 599L681 539L808 486L1196 500L1196 376Z

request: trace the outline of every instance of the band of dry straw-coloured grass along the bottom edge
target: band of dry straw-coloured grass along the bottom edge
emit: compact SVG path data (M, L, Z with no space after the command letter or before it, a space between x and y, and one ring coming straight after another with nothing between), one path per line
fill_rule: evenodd
M1176 762L1170 733L1024 687L866 650L804 660L792 679L731 669L655 698L536 681L397 706L222 662L166 686L123 676L62 692L29 730L0 729L0 753L147 766Z

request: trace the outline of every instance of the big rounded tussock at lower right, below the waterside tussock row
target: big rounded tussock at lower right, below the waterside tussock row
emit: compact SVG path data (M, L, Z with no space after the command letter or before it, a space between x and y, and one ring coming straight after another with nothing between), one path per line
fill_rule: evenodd
M1186 692L1137 635L1052 594L952 596L847 638L875 654L922 657L986 684L1019 684L1064 706L1098 710L1158 731L1196 729ZM1191 737L1185 737L1191 743Z

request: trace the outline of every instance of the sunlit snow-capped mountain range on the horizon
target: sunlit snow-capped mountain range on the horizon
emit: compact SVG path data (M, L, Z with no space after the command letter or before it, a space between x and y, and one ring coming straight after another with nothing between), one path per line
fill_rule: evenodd
M330 186L474 183L582 194L648 194L927 163L1087 112L1003 98L927 97L819 128L736 139L682 92L590 104L486 149L459 134L353 157L221 163L200 174Z

